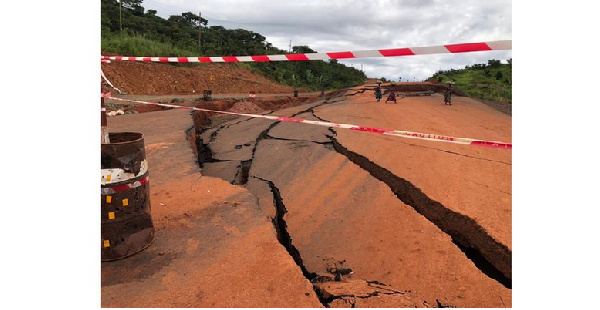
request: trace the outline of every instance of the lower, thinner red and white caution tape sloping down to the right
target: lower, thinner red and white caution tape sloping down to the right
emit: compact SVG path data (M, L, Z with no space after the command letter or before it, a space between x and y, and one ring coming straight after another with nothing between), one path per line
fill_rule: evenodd
M437 135L437 134L428 134L428 133L419 133L419 132L412 132L412 131L374 128L374 127L364 127L364 126L358 126L358 125L352 125L352 124L338 124L338 123L330 123L330 122L323 122L323 121L312 121L312 120L306 120L306 119L301 119L301 118L291 118L291 117L274 116L274 115L246 114L246 113L235 113L235 112L227 112L227 111L215 111L215 110L208 110L208 109L195 108L195 107L184 107L184 106L178 106L178 105L173 105L173 104L116 98L116 97L111 97L110 93L102 94L101 96L104 98L113 99L113 100L117 100L117 101L140 103L140 104L147 104L147 105L158 105L158 106L163 106L163 107L168 107L168 108L178 108L178 109L185 109L185 110L213 112L213 113L219 113L219 114L237 115L237 116L245 116L245 117L252 117L252 118L262 118L262 119L268 119L268 120L280 121L280 122L304 123L304 124L311 124L311 125L318 125L318 126L325 126L325 127L350 129L350 130L355 130L355 131L366 131L366 132L379 133L379 134L383 134L383 135L397 136L397 137L410 138L410 139L448 142L448 143L456 143L456 144L467 144L467 145L475 145L475 146L486 146L486 147L501 148L501 149L512 149L512 143L500 142L500 141L485 141L485 140L477 140L477 139L470 139L470 138L456 138L456 137L449 137L449 136Z

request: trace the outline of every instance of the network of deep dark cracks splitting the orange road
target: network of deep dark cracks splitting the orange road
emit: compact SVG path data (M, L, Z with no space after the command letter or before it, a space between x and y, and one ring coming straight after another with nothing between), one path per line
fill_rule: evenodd
M326 104L339 102L340 100L334 101L334 98L343 97L343 92L332 94L326 98L322 103L309 107L303 111L293 114L291 117L296 117L302 114L310 113L313 117L327 121L319 117L314 109ZM343 100L343 99L341 99ZM239 121L235 124L243 122ZM238 171L233 180L228 180L232 184L246 185L249 178L255 178L266 182L273 195L273 204L275 207L275 217L272 218L273 225L277 232L278 241L284 246L286 251L292 257L296 265L301 269L302 274L313 283L313 289L317 293L320 302L328 307L329 303L332 302L336 297L325 296L320 287L314 285L314 283L323 281L322 276L317 275L314 272L310 272L302 261L300 251L293 245L292 237L287 229L287 223L285 222L285 214L287 209L283 204L283 198L281 192L276 184L268 179L260 178L257 176L250 176L250 169L252 162L256 155L256 150L260 142L264 139L270 140L281 140L281 141L301 141L310 142L324 145L330 151L335 151L340 155L346 157L350 162L359 166L364 171L368 172L371 176L377 180L383 182L386 186L392 190L398 200L404 204L412 207L417 213L424 216L429 222L437 226L441 231L448 234L452 242L470 259L475 266L483 272L489 278L496 280L506 288L512 287L512 253L503 244L497 242L492 238L484 228L482 228L475 220L468 216L459 214L441 203L429 198L422 190L417 188L408 180L394 175L389 170L375 164L366 157L347 149L344 147L336 138L337 132L333 128L328 128L331 135L326 135L328 142L312 141L312 140L299 140L285 137L274 137L269 132L279 125L280 122L273 122L265 130L260 132L254 141L254 147L252 149L252 156L249 159L242 160L238 166ZM230 124L234 125L234 124ZM211 139L207 143L203 143L202 139L196 141L198 163L202 167L205 163L218 162L220 160L214 159L210 143L215 141L215 137L219 130L223 128L229 128L230 126L221 125L220 128L211 134ZM199 139L201 131L206 130L199 129L196 127L196 139ZM454 154L462 155L462 154ZM480 158L477 158L480 159ZM483 158L481 158L483 159ZM331 280L331 279L326 279ZM376 281L375 281L376 282ZM437 301L437 300L436 300ZM442 306L438 301L438 306ZM353 304L352 304L353 306Z

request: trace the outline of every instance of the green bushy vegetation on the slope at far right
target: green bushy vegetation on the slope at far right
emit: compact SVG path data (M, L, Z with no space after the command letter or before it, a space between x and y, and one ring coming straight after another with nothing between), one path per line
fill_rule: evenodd
M508 64L488 60L486 64L466 66L460 70L438 71L428 80L454 82L470 97L512 103L512 58Z

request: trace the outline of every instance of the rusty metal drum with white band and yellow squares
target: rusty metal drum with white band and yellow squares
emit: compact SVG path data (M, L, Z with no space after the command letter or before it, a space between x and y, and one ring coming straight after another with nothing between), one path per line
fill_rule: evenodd
M144 137L109 134L101 145L101 260L131 256L154 241Z

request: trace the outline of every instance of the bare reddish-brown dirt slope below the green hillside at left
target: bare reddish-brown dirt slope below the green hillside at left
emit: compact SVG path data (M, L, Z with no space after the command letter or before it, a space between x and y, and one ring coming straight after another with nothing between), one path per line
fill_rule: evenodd
M102 53L112 56L109 53ZM103 63L102 71L121 91L131 95L198 94L205 89L218 93L292 94L294 89L278 84L238 64L163 64L138 61ZM102 83L102 91L115 92ZM302 89L299 89L303 92Z

